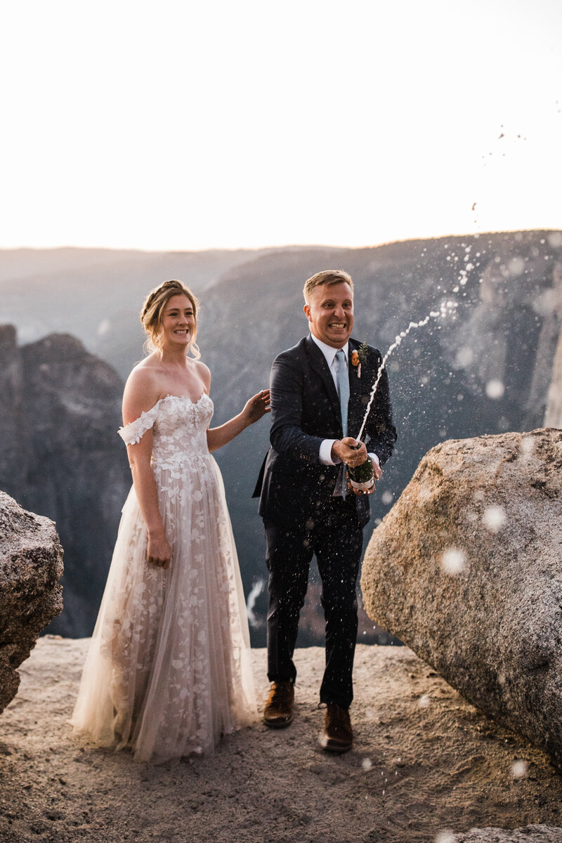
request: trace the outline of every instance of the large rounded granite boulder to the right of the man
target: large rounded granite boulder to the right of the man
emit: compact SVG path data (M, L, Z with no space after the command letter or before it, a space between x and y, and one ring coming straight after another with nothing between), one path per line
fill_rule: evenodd
M363 563L368 615L562 765L562 431L426 454Z

